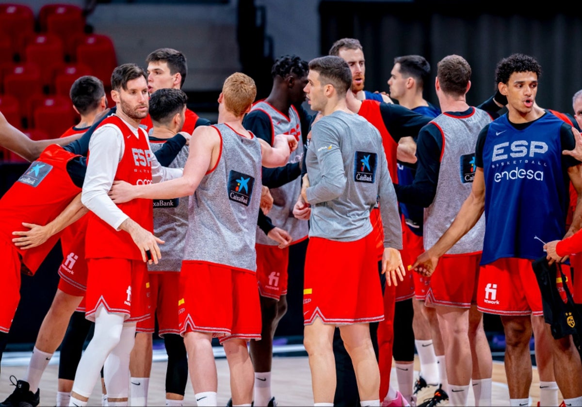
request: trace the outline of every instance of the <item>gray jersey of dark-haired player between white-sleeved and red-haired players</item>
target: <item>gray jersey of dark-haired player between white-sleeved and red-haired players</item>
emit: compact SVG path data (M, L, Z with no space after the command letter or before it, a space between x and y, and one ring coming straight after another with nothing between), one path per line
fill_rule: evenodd
M151 140L151 151L156 152L164 142ZM168 167L183 168L188 159L187 145L176 155ZM162 258L158 264L148 264L150 272L179 272L182 269L184 241L188 228L188 198L154 199L154 235L165 243L159 245Z

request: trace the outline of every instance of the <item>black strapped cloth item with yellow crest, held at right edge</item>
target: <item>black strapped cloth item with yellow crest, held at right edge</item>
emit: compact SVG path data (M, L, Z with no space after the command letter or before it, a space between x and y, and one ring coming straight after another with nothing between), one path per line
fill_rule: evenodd
M550 325L552 336L555 339L560 339L567 335L572 335L578 351L582 352L580 349L582 317L577 310L576 304L574 304L562 267L558 267L556 262L549 265L548 259L545 257L535 260L532 263L532 267L542 294L544 320ZM558 270L560 274L558 274ZM562 301L562 297L560 297L556 287L556 276L558 275L562 277L567 302Z

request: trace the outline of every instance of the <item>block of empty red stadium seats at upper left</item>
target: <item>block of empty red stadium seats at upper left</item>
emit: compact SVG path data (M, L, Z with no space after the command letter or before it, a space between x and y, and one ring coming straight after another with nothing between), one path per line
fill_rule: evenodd
M109 91L116 66L111 38L91 33L79 6L45 4L34 15L26 5L0 4L0 112L31 138L57 138L76 124L74 80L94 75ZM0 159L12 158L0 150Z

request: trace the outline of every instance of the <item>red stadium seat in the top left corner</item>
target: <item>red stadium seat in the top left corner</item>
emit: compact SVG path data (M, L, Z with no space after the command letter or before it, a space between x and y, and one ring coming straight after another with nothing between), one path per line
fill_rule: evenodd
M9 38L12 57L19 61L24 53L26 38L34 33L34 12L23 4L0 4L0 36Z

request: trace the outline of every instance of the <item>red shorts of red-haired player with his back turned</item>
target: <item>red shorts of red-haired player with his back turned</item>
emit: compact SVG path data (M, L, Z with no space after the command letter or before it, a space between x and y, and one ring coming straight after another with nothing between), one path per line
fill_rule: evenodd
M184 260L180 272L180 334L212 333L219 342L261 339L257 276L247 270Z

